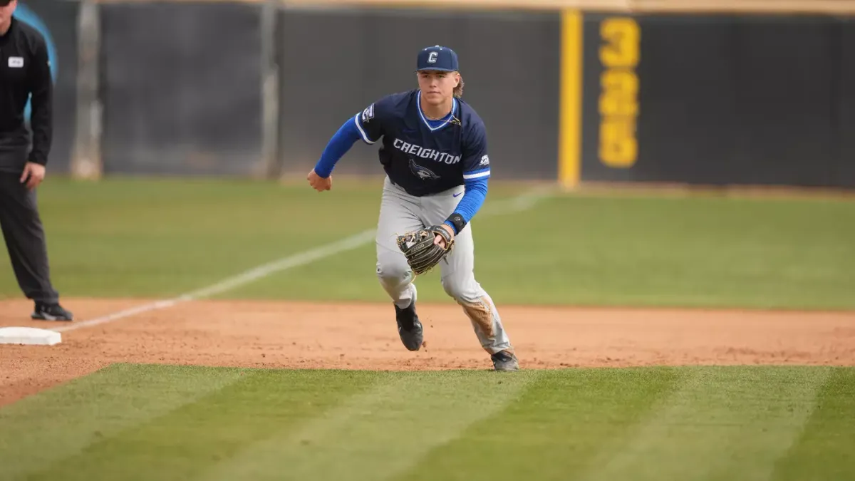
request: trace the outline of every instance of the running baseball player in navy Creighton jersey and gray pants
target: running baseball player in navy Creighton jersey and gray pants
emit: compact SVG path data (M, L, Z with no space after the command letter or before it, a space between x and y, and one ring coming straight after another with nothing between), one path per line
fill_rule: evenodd
M428 47L416 57L418 88L387 95L349 118L307 177L322 192L332 171L357 140L380 142L386 172L377 226L377 276L395 306L404 347L422 347L416 314L416 275L398 235L432 226L433 243L454 249L439 262L445 293L463 307L496 371L519 365L492 299L475 280L475 245L469 222L481 208L490 178L486 128L465 103L457 54ZM432 235L433 237L433 235Z

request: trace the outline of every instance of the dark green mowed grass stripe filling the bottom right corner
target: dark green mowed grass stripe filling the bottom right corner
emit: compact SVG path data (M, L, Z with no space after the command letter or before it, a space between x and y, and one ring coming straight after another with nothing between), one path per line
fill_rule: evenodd
M772 481L855 479L855 369L835 368L798 442L775 465Z

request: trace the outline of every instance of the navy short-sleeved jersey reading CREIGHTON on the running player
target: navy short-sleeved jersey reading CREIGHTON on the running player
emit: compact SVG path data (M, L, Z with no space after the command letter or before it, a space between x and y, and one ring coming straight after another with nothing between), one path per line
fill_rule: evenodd
M407 193L439 193L490 176L486 128L469 104L454 98L439 120L422 114L418 90L393 93L354 117L368 144L382 140L380 163Z

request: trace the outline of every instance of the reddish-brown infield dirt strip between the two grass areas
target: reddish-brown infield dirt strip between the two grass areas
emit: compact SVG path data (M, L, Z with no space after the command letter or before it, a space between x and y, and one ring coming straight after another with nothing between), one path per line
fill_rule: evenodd
M65 299L80 320L149 300ZM31 321L0 301L0 327ZM407 351L392 305L192 301L62 333L52 347L0 346L0 406L115 362L252 368L492 368L454 304L420 303L425 347ZM646 365L855 365L855 312L499 306L522 369ZM75 321L80 322L80 321Z

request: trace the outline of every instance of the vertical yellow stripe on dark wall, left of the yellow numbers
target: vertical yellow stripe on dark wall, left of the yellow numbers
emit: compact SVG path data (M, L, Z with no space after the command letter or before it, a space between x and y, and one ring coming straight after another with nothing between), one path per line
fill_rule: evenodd
M575 187L581 177L582 14L561 13L561 110L558 124L558 181Z

